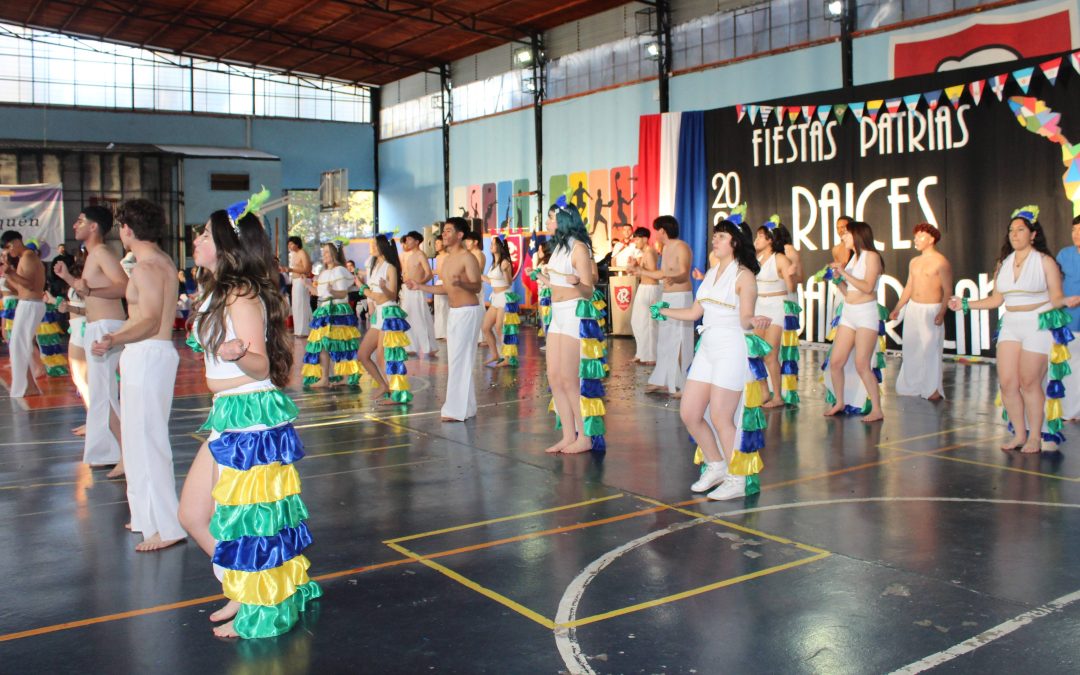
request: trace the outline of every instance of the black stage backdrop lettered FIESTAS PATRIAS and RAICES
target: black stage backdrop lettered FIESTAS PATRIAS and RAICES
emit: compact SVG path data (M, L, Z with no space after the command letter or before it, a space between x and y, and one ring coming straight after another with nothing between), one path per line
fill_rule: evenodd
M1026 97L1029 107L1037 105L1036 99L1043 102L1061 113L1063 136L1080 143L1080 77L1065 55L1052 85L1039 67L1049 58L777 100L771 105L784 106L783 116L778 120L773 109L765 125L760 111L751 121L747 107L708 110L711 220L726 217L744 201L752 230L780 214L808 276L831 259L838 216L865 220L885 258L879 301L890 309L903 292L908 262L917 255L912 228L932 222L942 231L939 249L953 264L957 294L985 297L1014 208L1041 207L1040 220L1053 254L1070 243L1072 204L1063 186L1063 147L1022 126L1009 105L1011 97ZM1027 94L1010 75L1026 66L1035 68ZM999 100L993 80L987 80L1000 75L1008 78ZM986 81L986 86L976 105L968 85L977 81ZM955 105L942 94L931 111L921 96L958 84L964 86ZM914 113L903 103L895 109L896 98L913 95L920 95ZM875 99L892 99L895 111L882 105L874 122L868 111L860 121L849 108L837 121L836 105ZM816 113L812 122L805 114L797 121L788 116L787 106L828 105L834 108L824 122ZM802 339L822 341L827 333L835 298L825 297L824 286L812 280L802 286ZM967 320L947 318L946 351L993 355L989 337L996 323L996 312L973 312ZM888 333L895 348L902 324L889 325Z

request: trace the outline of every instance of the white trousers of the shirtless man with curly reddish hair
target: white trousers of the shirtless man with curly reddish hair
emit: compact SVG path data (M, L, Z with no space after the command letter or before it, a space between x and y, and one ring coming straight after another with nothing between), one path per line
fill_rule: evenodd
M929 399L942 387L945 324L934 325L940 303L908 302L904 308L904 362L896 376L896 393Z

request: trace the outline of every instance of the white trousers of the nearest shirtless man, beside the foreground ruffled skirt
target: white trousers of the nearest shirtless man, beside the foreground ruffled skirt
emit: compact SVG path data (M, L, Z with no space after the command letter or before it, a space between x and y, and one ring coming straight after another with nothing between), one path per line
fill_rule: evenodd
M180 357L172 340L129 345L120 356L120 417L132 531L163 541L187 537L177 516L168 413Z

